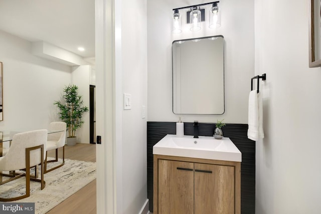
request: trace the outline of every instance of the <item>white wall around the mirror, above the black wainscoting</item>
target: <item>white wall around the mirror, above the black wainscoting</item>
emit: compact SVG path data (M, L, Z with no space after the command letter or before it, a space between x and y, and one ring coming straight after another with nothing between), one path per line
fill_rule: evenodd
M172 111L172 42L178 39L223 35L225 39L225 113L223 115L183 115L183 122L247 123L248 93L254 75L254 1L221 1L221 28L183 29L172 35L174 8L208 1L147 1L148 44L148 121L177 121L181 115ZM208 10L210 5L207 6ZM208 17L206 17L208 19ZM183 21L184 27L184 21ZM184 28L188 28L185 25ZM214 96L214 94L213 94Z

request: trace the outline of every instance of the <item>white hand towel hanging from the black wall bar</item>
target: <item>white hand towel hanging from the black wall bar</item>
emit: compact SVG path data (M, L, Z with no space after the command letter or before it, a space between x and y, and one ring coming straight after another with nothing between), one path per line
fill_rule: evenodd
M264 138L263 133L263 108L262 96L257 94L256 90L250 92L249 95L249 112L248 112L249 128L247 130L247 137L251 140L258 140Z

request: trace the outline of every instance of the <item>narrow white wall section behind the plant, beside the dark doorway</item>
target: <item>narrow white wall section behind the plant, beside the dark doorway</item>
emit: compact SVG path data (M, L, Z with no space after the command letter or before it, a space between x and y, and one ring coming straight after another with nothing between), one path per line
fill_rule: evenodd
M83 107L87 106L89 108L90 104L90 93L89 93L89 85L90 85L90 66L82 65L82 66L74 66L72 68L71 74L71 84L78 86L78 95L82 97ZM85 112L82 117L82 121L84 123L82 126L76 130L77 143L90 143L89 141L89 126L90 126L90 118L89 111ZM68 135L68 134L67 134Z

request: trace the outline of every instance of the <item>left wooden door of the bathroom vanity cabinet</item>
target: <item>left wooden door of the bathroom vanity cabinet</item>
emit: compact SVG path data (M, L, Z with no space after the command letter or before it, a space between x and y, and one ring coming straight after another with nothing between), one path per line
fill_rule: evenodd
M194 212L194 163L158 160L158 214Z

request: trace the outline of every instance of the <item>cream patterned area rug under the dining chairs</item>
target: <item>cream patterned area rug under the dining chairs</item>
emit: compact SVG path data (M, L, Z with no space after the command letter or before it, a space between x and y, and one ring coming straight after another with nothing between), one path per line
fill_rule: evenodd
M57 162L48 163L47 168L56 164ZM12 202L35 202L36 213L46 213L95 178L95 162L65 159L65 165L45 174L46 187L43 190L40 189L40 182L31 181L30 196ZM0 185L0 197L24 194L25 184L26 178L21 177Z

